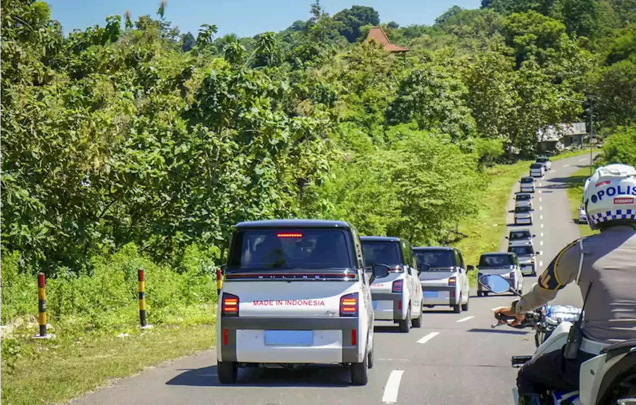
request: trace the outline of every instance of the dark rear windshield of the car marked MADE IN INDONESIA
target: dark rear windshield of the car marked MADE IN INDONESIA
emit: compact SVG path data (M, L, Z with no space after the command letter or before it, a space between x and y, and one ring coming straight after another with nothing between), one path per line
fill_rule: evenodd
M228 268L352 268L350 246L344 230L240 230L232 240Z

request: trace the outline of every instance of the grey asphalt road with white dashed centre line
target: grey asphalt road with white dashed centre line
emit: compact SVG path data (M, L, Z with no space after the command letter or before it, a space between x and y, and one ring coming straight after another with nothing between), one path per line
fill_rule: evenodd
M551 259L566 244L579 238L565 194L565 182L589 156L575 156L553 162L544 179L537 182L534 198L534 244L541 274ZM510 207L518 184L511 190ZM508 230L514 228L508 214ZM528 228L528 226L519 226ZM507 250L507 240L501 249ZM473 263L476 264L476 263ZM529 291L536 277L525 277L523 291ZM511 404L516 369L510 366L512 355L534 352L534 334L530 331L499 327L492 309L509 305L512 294L471 296L468 312L455 314L450 308L426 310L424 327L398 333L391 322L377 321L375 330L375 367L369 371L366 387L349 387L349 373L339 368L303 371L239 371L235 386L221 386L216 377L216 354L202 352L150 369L139 376L118 381L112 387L73 401L90 405L136 404L418 404L474 405ZM581 305L576 286L563 289L555 303Z

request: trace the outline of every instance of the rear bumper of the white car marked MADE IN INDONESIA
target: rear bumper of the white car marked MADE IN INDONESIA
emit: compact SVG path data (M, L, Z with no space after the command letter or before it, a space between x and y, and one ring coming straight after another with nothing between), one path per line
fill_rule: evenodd
M311 342L299 345L268 345L266 331L313 331ZM352 331L356 331L355 333ZM331 364L361 362L366 350L359 342L366 336L359 319L223 317L218 336L218 360L241 363ZM357 344L353 345L352 336Z

